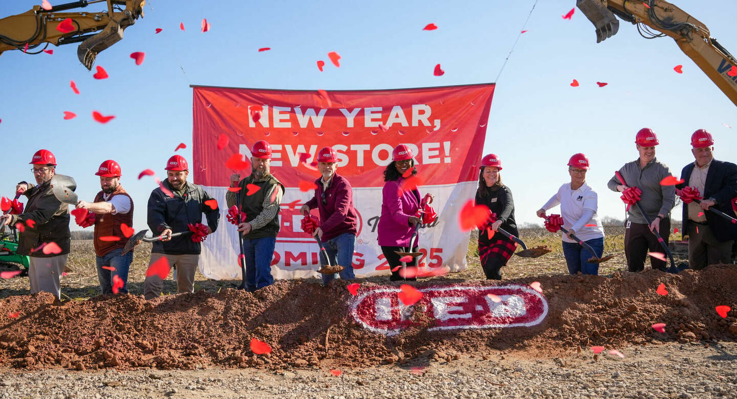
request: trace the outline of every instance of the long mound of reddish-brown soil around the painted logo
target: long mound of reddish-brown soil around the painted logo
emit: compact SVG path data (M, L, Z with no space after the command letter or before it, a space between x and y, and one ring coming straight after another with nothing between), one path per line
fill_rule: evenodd
M521 350L559 356L591 345L621 348L658 341L737 340L733 265L680 274L623 272L609 278L561 275L503 282L453 278L415 282L422 288L539 281L548 299L548 316L534 327L455 331L427 331L433 320L424 320L391 337L354 322L349 311L354 297L347 282L335 280L322 288L314 281L279 281L254 294L226 289L152 301L130 295L61 303L46 293L9 297L0 301L4 320L0 364L80 370L365 367L416 357L453 360L461 353L484 356ZM666 296L656 293L660 283L666 285ZM360 290L376 286L362 282ZM714 310L717 305L734 310L723 319ZM8 316L16 312L17 317ZM652 329L659 322L666 323L666 333ZM271 353L255 355L252 338L270 344Z

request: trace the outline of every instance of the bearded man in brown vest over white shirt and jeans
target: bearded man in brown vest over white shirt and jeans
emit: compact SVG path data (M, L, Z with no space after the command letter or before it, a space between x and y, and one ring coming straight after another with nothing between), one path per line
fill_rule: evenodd
M125 243L133 233L133 199L120 184L120 165L108 159L99 165L102 191L94 202L79 201L77 209L94 212L94 251L97 279L102 294L128 294L128 268L133 251L123 255ZM124 226L125 225L125 226Z

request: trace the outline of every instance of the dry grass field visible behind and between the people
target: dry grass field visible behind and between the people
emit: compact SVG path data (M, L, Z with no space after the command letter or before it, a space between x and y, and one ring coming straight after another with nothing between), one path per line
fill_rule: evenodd
M624 226L605 226L607 235L604 243L604 255L617 255L606 263L601 263L599 274L607 276L615 271L626 270L624 258ZM464 271L454 273L453 278L465 280L482 280L483 271L478 260L477 236L478 232L472 232L467 253L467 268ZM553 251L537 259L514 256L505 268L502 269L504 280L512 280L520 277L531 277L539 275L567 274L565 258L563 257L562 245L559 234L553 234L545 229L520 229L520 237L528 247L545 245ZM671 241L680 239L680 234L671 234ZM128 276L128 291L134 295L142 295L144 290L144 276L148 266L151 251L150 243L142 243L136 246L133 263L130 265ZM685 254L675 254L676 263L687 260ZM646 267L649 264L646 263ZM83 300L100 294L97 271L95 269L94 249L91 240L72 240L71 254L67 266L71 272L62 278L62 299ZM171 277L171 275L170 275ZM443 277L433 277L443 278ZM379 282L386 280L385 277L371 277L371 281ZM204 289L217 292L222 288L240 284L240 280L216 281L209 280L201 274L195 277L195 291ZM28 294L29 283L27 277L15 277L10 280L0 281L0 298L11 295ZM164 283L164 294L176 292L176 283L168 279Z

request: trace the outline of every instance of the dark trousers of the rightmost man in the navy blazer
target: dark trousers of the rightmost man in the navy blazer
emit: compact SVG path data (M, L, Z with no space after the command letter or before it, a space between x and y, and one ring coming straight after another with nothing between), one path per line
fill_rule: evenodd
M709 265L732 263L732 243L716 240L708 224L688 223L688 265L701 270Z

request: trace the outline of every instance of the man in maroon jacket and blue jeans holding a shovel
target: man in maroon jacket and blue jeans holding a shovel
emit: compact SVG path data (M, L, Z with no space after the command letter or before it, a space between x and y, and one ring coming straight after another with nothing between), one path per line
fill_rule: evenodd
M314 235L320 237L331 265L343 266L340 278L353 280L353 248L358 231L358 215L353 207L353 190L348 179L335 173L338 169L338 154L331 147L318 152L318 170L321 178L315 181L315 197L304 204L300 212L306 215L310 209L320 211L320 226ZM327 263L322 252L320 260ZM335 274L323 274L323 285L335 279Z

